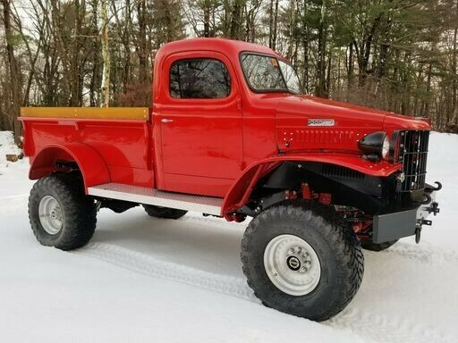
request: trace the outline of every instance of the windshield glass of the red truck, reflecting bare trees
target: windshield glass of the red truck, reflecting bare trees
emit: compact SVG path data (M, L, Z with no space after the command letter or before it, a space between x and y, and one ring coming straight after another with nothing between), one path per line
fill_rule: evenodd
M293 67L274 56L242 54L242 69L250 88L257 92L301 93L301 82Z

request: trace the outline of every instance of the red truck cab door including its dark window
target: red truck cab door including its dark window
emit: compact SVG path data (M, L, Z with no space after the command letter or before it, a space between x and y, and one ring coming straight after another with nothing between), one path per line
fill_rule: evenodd
M157 114L165 190L224 197L242 168L242 103L233 66L216 52L169 56ZM161 174L161 171L159 171Z

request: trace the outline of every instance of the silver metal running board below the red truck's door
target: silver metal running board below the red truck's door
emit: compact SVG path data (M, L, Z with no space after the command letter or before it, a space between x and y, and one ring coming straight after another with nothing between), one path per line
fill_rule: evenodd
M106 197L131 203L170 207L212 215L221 215L221 205L223 205L223 199L219 197L201 197L164 192L153 188L124 185L122 183L105 183L89 187L88 194L94 197Z

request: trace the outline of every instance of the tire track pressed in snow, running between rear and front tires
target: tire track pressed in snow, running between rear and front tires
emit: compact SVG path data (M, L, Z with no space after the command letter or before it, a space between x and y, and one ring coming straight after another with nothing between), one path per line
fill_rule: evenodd
M160 260L123 247L106 243L93 243L74 252L115 264L124 269L151 277L174 280L199 289L212 290L259 303L243 279L201 271L182 264Z

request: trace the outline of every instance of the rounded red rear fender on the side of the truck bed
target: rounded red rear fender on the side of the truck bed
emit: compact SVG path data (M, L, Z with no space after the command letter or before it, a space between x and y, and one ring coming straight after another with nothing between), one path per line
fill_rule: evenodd
M106 163L92 147L81 143L45 146L30 159L30 180L38 180L55 171L57 160L74 161L80 167L84 180L84 190L88 187L110 182L110 172Z

